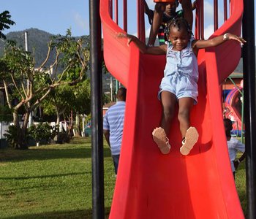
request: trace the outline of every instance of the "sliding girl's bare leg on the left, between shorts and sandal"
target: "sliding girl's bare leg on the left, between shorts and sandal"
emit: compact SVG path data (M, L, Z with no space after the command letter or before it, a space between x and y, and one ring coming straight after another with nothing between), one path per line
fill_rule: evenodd
M168 91L162 91L162 118L160 126L165 129L165 133L170 133L170 123L174 116L174 110L176 105L176 96Z

